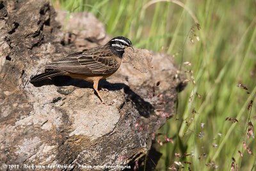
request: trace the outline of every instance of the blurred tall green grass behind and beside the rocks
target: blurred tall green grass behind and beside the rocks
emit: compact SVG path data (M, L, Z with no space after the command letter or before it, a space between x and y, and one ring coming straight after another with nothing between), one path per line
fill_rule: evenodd
M255 170L256 141L246 135L248 123L255 125L256 119L255 105L247 110L256 92L255 1L52 0L52 3L71 13L91 11L105 24L108 34L126 36L135 47L177 54L175 61L182 71L193 71L186 73L190 82L179 93L177 114L159 130L163 133L157 137L159 140L164 142L166 136L173 143L155 144L163 153L156 170L168 170L171 165L180 167L175 161L184 165L180 170L188 167L214 170L216 166L219 170L230 170L232 163L234 170L236 164L239 170ZM195 20L202 28L200 31ZM191 32L191 27L195 31ZM185 61L191 66L183 64ZM246 85L250 94L237 84ZM238 123L225 121L227 117L236 118ZM244 141L252 155L243 149ZM194 156L182 158L184 152Z

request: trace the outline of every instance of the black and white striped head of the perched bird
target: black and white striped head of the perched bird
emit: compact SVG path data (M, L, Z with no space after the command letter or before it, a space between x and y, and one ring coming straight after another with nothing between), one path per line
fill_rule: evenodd
M134 52L131 40L122 36L113 38L108 42L108 44L111 48L111 51L120 58L122 58L125 48L131 48L131 50Z

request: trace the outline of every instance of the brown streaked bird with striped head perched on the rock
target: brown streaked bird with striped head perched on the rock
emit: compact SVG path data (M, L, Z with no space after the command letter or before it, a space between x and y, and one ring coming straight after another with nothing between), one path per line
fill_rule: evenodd
M98 90L99 80L113 75L118 70L125 48L130 48L134 52L131 40L117 36L106 45L86 48L46 64L45 72L35 75L30 82L38 82L58 75L83 79L93 83L93 89L97 92L101 103L106 104Z

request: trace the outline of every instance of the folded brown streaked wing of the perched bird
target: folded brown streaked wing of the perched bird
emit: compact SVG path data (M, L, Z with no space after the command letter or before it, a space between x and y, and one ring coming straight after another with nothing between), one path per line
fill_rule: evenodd
M104 46L77 52L67 57L47 64L46 69L81 73L85 75L100 75L114 73L120 66L120 61Z

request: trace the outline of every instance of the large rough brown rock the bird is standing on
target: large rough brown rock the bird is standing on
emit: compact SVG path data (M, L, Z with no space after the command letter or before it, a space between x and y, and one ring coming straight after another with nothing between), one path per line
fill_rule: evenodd
M99 22L88 13L79 16L87 16L85 23ZM152 133L167 119L160 113L175 113L182 79L175 77L172 57L150 52L148 73L122 63L100 82L108 89L100 93L113 105L98 104L92 84L83 80L61 76L31 84L29 78L44 64L81 50L76 39L66 41L55 18L47 0L0 0L0 167L129 165L150 149ZM76 33L90 33L86 47L109 40L102 24L86 30Z

